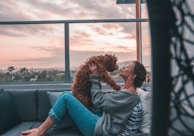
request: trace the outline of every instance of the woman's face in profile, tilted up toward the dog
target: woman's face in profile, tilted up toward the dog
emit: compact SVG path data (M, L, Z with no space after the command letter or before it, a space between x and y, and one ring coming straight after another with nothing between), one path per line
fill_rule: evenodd
M120 76L125 78L129 78L130 76L133 76L134 71L134 62L129 62L129 64L121 69Z

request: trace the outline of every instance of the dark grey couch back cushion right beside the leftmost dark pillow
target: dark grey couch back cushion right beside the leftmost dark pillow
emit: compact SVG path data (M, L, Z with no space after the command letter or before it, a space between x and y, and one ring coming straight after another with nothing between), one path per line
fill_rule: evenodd
M22 121L37 120L36 90L8 90Z

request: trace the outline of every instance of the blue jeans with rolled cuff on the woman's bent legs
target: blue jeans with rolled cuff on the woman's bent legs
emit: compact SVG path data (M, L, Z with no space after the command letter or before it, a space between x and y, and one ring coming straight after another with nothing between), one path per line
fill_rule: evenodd
M84 136L93 136L99 116L88 110L71 93L64 92L51 108L49 115L58 124L63 116L69 113L78 129Z

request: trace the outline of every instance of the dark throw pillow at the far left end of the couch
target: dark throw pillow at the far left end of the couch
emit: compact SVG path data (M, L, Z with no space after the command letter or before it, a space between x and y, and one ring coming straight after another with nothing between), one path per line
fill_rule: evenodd
M7 91L0 90L0 134L20 122L11 96Z

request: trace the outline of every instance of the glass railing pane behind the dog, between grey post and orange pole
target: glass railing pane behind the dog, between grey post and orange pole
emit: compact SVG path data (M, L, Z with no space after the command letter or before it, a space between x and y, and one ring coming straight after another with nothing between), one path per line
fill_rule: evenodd
M94 55L115 54L120 68L129 60L136 60L135 26L135 22L72 24L70 67L73 73L88 57Z

